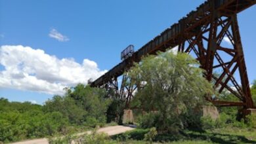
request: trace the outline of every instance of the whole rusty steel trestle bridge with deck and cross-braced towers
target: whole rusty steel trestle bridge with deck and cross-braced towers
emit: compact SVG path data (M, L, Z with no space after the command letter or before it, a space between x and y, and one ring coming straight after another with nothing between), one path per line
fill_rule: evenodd
M142 56L178 46L179 52L186 52L197 58L206 71L205 78L214 82L216 90L223 92L225 88L238 98L236 102L208 98L209 101L221 106L255 108L251 98L236 15L255 3L256 0L205 1L196 11L190 12L179 20L178 24L163 31L161 35L142 46L133 56L96 79L91 86L114 90L118 98L127 99L128 105L136 84L133 84L135 86L124 84L127 82L127 77L123 73L129 70L134 62L140 62ZM228 39L231 46L223 46L223 39ZM215 71L219 74L216 75ZM235 79L235 73L239 73L240 81ZM123 75L123 82L121 88L118 88L117 77L121 75Z

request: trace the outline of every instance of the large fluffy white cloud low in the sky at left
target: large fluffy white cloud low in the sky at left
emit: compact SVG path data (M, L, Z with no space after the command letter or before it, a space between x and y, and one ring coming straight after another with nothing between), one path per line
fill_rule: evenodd
M41 49L29 46L1 46L0 88L15 88L46 94L64 94L64 88L77 83L87 84L106 73L95 62L77 63L70 58L58 59Z

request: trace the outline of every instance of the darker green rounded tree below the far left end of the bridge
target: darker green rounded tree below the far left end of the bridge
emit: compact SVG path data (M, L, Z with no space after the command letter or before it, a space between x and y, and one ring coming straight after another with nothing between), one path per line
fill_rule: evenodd
M106 111L111 101L104 98L104 90L78 84L66 91L65 96L54 96L46 101L43 111L60 112L75 125L95 127L106 123Z

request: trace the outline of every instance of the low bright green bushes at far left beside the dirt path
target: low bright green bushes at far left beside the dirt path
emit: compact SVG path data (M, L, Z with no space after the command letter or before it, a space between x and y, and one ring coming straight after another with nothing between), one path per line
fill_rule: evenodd
M41 105L11 103L1 98L0 107L0 141L3 142L54 135L67 126L61 113L43 113Z

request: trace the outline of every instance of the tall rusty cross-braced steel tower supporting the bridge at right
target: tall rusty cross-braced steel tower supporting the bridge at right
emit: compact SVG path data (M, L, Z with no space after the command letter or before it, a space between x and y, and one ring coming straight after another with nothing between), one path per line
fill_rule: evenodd
M241 102L216 101L210 99L216 105L223 106L243 106L245 109L255 108L251 98L251 91L249 88L249 80L245 67L244 52L242 42L240 39L240 32L236 14L231 16L223 16L219 18L212 14L209 21L197 32L194 37L188 37L185 41L181 41L179 45L179 52L191 53L194 52L201 67L205 69L205 78L208 81L214 82L214 87L221 93L224 88L234 94ZM205 36L205 34L208 34ZM231 48L221 46L224 37L227 37L232 45ZM188 46L184 46L185 43ZM204 45L207 45L205 47ZM232 59L225 62L220 52L224 52ZM217 65L214 65L217 62ZM221 75L214 75L214 69L222 69ZM234 73L240 73L240 82L236 81ZM232 87L230 86L232 84Z

